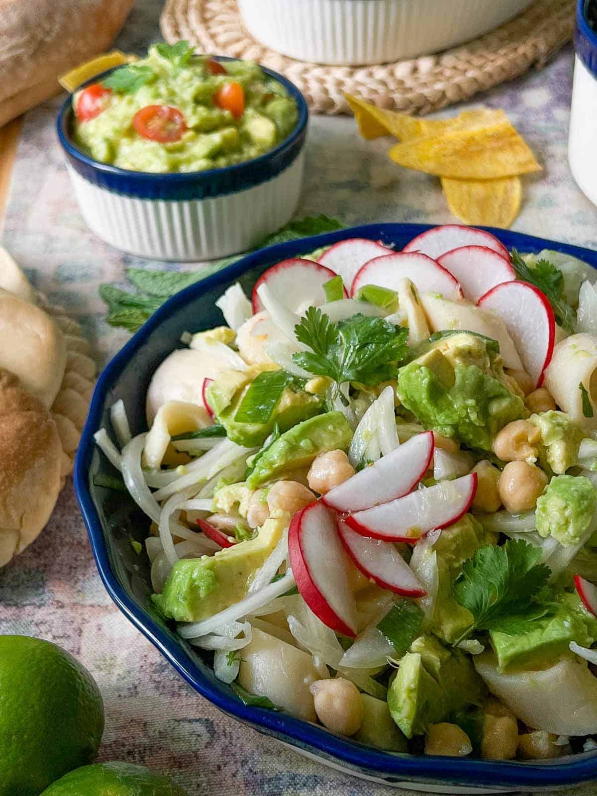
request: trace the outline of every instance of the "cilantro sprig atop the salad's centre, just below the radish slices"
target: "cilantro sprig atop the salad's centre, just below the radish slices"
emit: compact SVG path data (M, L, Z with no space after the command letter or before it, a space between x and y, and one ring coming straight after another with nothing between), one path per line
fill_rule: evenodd
M314 306L295 326L295 334L311 349L294 353L295 363L316 376L330 377L335 382L332 400L339 395L343 404L347 400L341 384L358 381L371 386L388 381L396 374L396 363L408 353L408 330L361 314L334 323Z

